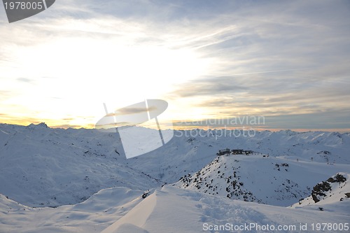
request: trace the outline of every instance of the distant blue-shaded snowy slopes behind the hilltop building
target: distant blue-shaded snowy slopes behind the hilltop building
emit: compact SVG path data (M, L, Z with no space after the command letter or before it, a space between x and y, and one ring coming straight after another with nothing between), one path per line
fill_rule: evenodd
M197 172L214 160L224 148L253 150L269 157L286 155L302 160L329 164L350 164L350 134L332 132L297 133L256 132L253 137L238 136L234 131L180 131L167 145L153 153L133 159L132 163L153 177L174 183L179 177ZM201 136L202 135L202 136ZM203 136L204 135L204 136ZM241 134L243 135L243 134ZM181 137L176 137L181 136ZM155 166L155 163L157 166Z

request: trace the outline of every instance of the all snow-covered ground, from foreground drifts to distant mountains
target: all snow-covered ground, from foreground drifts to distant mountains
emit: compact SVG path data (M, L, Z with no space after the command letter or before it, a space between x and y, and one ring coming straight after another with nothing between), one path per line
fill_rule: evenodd
M204 230L226 223L313 232L312 223L349 225L349 133L233 135L175 131L165 146L127 160L113 133L0 124L0 232L230 232ZM224 148L255 153L218 157ZM332 183L314 203L314 186L338 173L346 182Z

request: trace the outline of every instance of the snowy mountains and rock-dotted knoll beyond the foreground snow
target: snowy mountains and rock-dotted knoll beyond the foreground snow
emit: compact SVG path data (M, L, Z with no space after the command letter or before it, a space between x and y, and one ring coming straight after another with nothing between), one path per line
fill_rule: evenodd
M103 188L148 190L185 177L188 181L182 179L181 187L287 206L309 195L315 183L350 171L348 133L263 131L249 138L216 134L175 132L165 146L126 160L113 133L51 129L44 123L2 124L0 193L28 206L59 206L82 202ZM223 148L256 154L217 157Z

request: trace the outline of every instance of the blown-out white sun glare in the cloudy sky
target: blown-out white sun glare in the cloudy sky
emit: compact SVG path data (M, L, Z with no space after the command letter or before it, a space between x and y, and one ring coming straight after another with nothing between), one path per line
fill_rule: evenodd
M30 87L17 86L22 94L8 104L20 101L31 118L52 119L50 125L91 126L104 114L103 103L113 111L162 98L174 85L204 76L211 62L190 48L131 46L129 41L92 36L52 38L13 49L18 65L7 71L8 76L34 81Z

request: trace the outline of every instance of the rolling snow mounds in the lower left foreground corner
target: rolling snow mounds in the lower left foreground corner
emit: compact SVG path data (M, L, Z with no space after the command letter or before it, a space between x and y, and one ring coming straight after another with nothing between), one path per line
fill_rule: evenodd
M101 190L85 202L31 208L0 195L0 232L101 232L141 202L143 192Z

